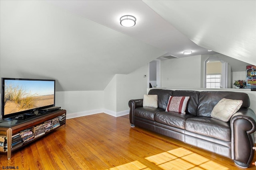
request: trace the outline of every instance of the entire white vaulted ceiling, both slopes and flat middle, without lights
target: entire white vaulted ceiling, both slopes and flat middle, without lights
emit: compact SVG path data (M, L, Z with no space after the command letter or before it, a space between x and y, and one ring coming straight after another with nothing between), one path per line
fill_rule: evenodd
M126 14L134 27L120 25ZM103 90L115 74L186 50L256 65L255 34L255 1L1 0L0 76Z

